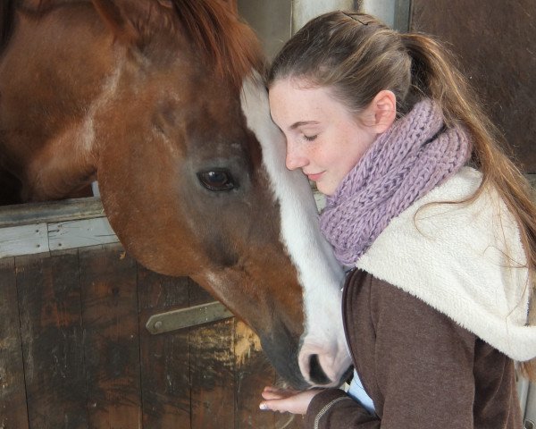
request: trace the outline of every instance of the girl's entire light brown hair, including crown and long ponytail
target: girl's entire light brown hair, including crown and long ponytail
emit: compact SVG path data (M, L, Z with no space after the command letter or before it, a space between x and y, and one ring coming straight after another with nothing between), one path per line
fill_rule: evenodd
M356 114L382 89L395 94L401 115L423 97L438 103L447 126L462 124L470 133L472 164L483 175L480 188L465 202L478 198L487 187L497 189L519 224L529 269L527 287L534 297L536 205L532 189L506 155L502 137L483 114L445 46L422 33L401 34L365 13L325 13L300 29L273 60L268 86L281 79L330 88L332 96ZM536 299L532 298L534 307ZM535 364L534 359L522 364L524 374L532 379L536 379Z

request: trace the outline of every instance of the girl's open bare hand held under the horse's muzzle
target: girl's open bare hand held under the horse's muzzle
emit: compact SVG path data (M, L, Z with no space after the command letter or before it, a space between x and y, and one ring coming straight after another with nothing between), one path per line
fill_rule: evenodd
M262 393L264 401L259 408L289 412L292 414L306 414L309 403L321 390L294 391L292 389L277 389L265 387Z

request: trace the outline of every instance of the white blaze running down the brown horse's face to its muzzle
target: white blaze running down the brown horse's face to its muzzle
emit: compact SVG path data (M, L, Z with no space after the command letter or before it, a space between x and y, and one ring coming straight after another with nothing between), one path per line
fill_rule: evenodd
M300 368L308 374L308 357L317 354L324 372L338 381L351 364L341 315L344 272L322 237L306 176L285 166L285 139L272 122L268 94L257 75L244 81L241 103L247 127L261 144L264 167L281 207L281 240L297 268L304 291L306 332L302 337Z

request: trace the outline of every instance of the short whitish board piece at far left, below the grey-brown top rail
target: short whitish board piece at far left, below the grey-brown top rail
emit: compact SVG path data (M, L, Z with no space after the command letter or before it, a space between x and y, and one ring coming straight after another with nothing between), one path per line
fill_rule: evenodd
M0 257L18 257L47 252L46 223L0 229Z

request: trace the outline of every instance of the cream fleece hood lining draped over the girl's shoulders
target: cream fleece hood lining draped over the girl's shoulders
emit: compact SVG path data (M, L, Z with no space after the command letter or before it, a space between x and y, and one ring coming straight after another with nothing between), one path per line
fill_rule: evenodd
M480 172L462 168L392 219L356 266L423 299L508 357L529 360L536 357L536 326L525 325L528 271L514 218L497 192L471 205L425 206L459 201L481 181Z

